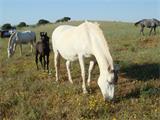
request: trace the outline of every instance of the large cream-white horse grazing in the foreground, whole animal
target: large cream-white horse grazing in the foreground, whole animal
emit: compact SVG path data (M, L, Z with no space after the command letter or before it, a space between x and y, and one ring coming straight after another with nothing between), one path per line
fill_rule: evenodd
M52 34L52 45L54 51L54 62L56 70L56 81L59 79L60 55L67 60L66 67L69 80L72 83L70 74L70 62L79 60L83 93L87 93L85 84L85 57L96 58L99 66L100 76L98 85L104 99L114 97L114 83L118 77L114 69L113 60L109 52L108 44L102 30L97 23L85 21L79 26L61 25ZM94 61L90 61L88 84Z

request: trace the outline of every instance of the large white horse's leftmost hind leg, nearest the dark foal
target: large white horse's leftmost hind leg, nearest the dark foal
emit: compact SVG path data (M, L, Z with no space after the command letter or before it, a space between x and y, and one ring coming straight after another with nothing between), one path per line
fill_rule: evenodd
M59 68L60 68L60 54L58 51L54 51L54 65L56 70L56 81L59 80Z

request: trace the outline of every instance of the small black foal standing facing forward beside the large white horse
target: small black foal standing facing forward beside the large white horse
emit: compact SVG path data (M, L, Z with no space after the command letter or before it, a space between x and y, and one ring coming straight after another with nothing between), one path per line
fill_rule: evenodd
M38 67L38 55L39 55L39 60L42 68L45 70L47 65L47 70L49 72L49 53L50 53L49 37L47 36L47 32L40 32L40 37L41 41L38 41L36 43L35 62L37 65L37 70L39 69Z

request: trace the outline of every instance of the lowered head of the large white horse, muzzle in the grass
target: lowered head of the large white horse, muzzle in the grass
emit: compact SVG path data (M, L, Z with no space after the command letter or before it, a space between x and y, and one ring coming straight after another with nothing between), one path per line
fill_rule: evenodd
M115 67L114 69L107 70L105 76L100 76L98 79L98 85L101 89L104 100L112 100L114 97L114 87L118 81L118 70L119 68Z

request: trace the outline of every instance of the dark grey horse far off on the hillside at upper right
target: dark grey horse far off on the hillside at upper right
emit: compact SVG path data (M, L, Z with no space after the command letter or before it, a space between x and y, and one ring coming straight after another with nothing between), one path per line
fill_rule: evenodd
M157 19L142 19L138 22L136 22L134 25L137 26L138 24L140 24L141 26L141 30L140 30L140 33L143 33L144 31L144 27L147 27L147 28L151 28L150 32L149 32L149 35L151 35L152 33L152 30L154 30L154 34L156 34L156 27L157 26L160 26L160 21L157 20Z

